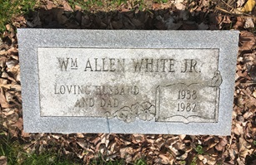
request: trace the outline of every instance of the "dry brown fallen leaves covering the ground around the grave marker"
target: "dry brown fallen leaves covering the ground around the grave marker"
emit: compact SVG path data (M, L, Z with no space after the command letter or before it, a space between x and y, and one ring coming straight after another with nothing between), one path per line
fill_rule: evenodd
M14 17L0 40L0 138L22 143L26 153L51 150L80 164L99 157L125 163L143 158L148 164L256 164L255 7L241 16L232 6L209 1L155 2L148 9L121 3L115 10L96 7L89 12L66 1L43 2L36 11ZM245 10L246 3L238 2ZM234 3L238 6L238 2ZM18 27L240 31L231 136L24 133ZM0 163L5 160L0 157ZM22 158L19 161L23 163Z

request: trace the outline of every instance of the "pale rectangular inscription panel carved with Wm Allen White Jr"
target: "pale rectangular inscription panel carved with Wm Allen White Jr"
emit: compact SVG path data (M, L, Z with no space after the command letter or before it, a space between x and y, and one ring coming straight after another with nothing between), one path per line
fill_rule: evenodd
M215 123L218 56L205 48L38 47L40 115Z

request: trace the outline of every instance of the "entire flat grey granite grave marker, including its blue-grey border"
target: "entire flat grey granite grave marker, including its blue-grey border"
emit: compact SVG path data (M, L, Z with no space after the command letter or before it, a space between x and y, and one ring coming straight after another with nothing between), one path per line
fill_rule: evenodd
M25 132L229 135L237 31L18 29Z

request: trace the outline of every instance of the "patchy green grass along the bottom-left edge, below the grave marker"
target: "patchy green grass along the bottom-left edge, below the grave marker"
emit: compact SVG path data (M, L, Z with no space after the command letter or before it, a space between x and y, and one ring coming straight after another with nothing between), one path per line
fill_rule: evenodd
M60 151L48 150L44 153L26 153L23 149L23 144L19 143L17 139L11 139L4 133L0 133L0 156L8 158L8 165L78 165L82 161L76 160L80 163L74 163L75 160L66 158L60 155ZM93 159L90 165L123 165L127 164L124 159L105 161L103 156ZM134 165L147 165L143 158L138 159L133 163Z

